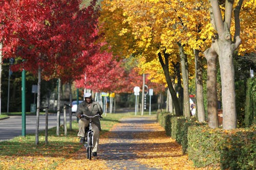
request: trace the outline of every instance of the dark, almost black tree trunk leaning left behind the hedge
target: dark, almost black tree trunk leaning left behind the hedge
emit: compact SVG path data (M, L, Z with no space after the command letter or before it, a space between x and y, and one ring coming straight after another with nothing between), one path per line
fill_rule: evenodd
M169 75L168 55L164 54L165 63L163 62L161 53L158 53L158 58L159 58L159 61L161 63L163 71L164 71L164 76L165 76L165 80L166 80L168 89L170 91L170 94L172 95L172 99L173 99L173 102L174 102L175 113L176 113L177 116L181 116L182 115L182 110L180 109L181 108L180 102L177 98L176 91L173 88L172 79L170 78L170 75Z

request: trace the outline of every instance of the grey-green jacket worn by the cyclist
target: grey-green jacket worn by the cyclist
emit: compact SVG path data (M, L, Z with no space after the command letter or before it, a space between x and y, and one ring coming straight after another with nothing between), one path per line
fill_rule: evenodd
M88 116L94 116L96 114L101 115L102 114L102 108L100 106L100 104L96 101L92 101L92 107L89 110L89 108L87 107L86 101L83 101L82 103L80 103L77 107L77 111L76 111L76 116L78 115L82 115L82 114L86 114ZM100 122L99 122L99 117L94 117L92 118L92 122L99 128L99 130L101 131L101 127L100 127Z

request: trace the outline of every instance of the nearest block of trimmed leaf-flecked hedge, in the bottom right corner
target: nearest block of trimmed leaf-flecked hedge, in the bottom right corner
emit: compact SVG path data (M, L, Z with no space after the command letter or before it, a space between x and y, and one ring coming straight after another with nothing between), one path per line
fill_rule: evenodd
M223 131L208 126L188 127L188 158L197 167L255 169L255 127Z

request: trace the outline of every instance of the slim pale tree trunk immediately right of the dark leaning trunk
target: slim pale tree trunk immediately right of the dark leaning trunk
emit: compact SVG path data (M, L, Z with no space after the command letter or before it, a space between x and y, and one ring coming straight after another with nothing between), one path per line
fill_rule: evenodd
M189 92L188 92L188 67L186 63L186 55L184 54L183 46L178 43L181 58L181 72L183 80L183 115L186 118L190 117L190 105L189 105Z

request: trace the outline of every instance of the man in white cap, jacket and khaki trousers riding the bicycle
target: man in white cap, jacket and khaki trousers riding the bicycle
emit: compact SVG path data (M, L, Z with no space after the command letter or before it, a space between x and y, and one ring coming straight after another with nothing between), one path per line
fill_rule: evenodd
M89 125L89 119L83 118L81 115L86 114L88 116L94 116L96 114L102 114L102 108L100 104L92 100L91 93L83 94L84 101L77 107L76 116L79 118L77 136L80 137L80 143L83 143L86 136L86 127ZM92 130L94 138L93 156L97 156L98 143L99 143L99 131L101 131L99 117L92 118Z

